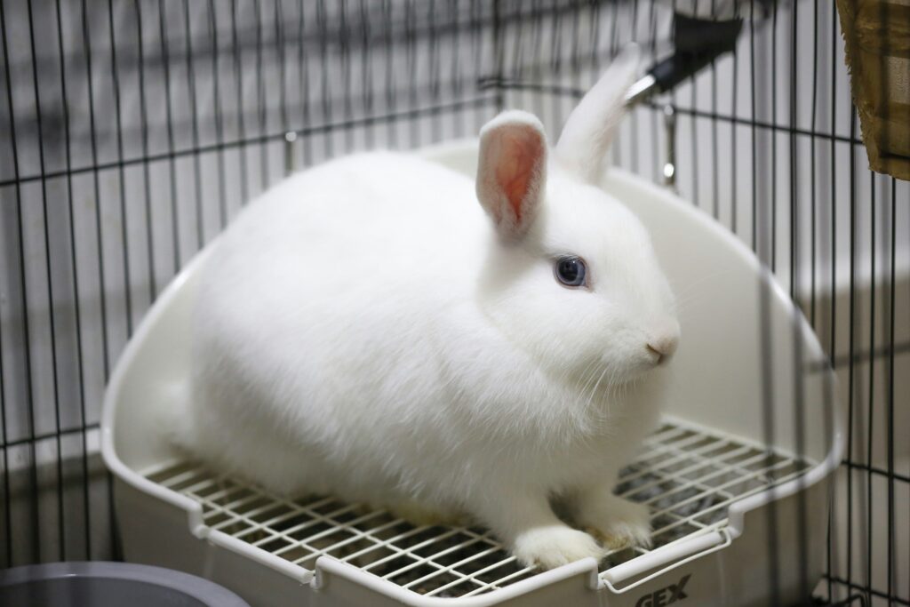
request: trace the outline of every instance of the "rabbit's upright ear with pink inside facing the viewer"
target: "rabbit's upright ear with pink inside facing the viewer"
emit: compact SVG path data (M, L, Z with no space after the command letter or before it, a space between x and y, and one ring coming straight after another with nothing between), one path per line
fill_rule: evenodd
M477 197L505 238L531 226L546 186L547 137L536 116L503 112L480 130Z

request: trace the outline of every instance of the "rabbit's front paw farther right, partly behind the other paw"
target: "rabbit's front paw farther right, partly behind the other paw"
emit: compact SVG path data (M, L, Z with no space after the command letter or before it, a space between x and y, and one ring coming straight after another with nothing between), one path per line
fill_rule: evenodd
M596 509L581 511L578 519L609 550L630 546L651 546L651 522L648 507L615 495L597 504Z

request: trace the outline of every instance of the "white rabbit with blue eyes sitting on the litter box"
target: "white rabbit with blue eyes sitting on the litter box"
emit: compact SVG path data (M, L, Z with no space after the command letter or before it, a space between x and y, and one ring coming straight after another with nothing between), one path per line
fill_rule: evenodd
M642 224L596 186L634 62L554 150L530 114L480 132L476 184L406 154L268 190L217 239L177 440L283 494L464 515L543 568L650 537L612 494L679 337ZM480 201L480 204L478 204Z

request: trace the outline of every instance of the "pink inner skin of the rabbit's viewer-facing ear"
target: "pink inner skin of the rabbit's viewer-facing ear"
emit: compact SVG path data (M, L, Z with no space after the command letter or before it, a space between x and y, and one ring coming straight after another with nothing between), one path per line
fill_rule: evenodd
M521 224L526 207L533 204L541 177L543 141L531 127L518 130L514 135L502 137L502 157L496 167L496 182L509 201L515 214L515 223Z

